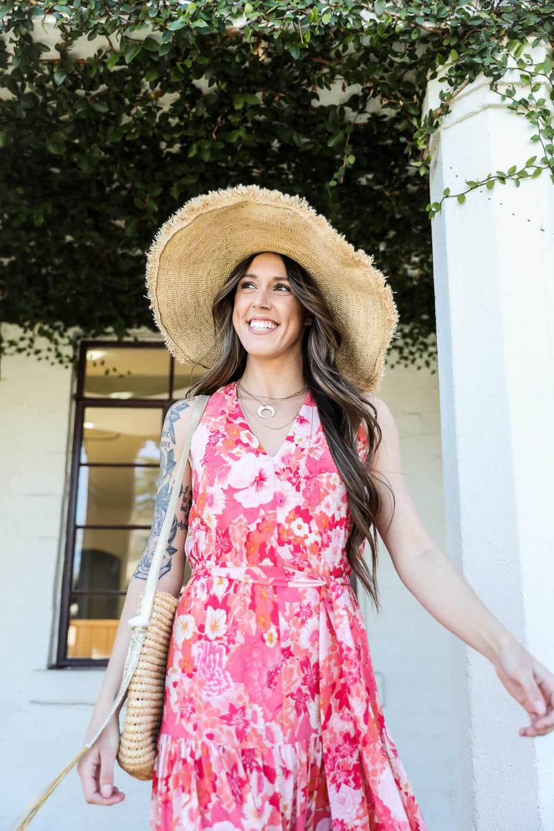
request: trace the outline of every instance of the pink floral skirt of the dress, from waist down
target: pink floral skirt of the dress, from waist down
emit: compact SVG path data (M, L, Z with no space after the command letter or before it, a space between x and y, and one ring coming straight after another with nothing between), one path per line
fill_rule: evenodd
M426 831L348 578L202 563L175 616L151 831Z

